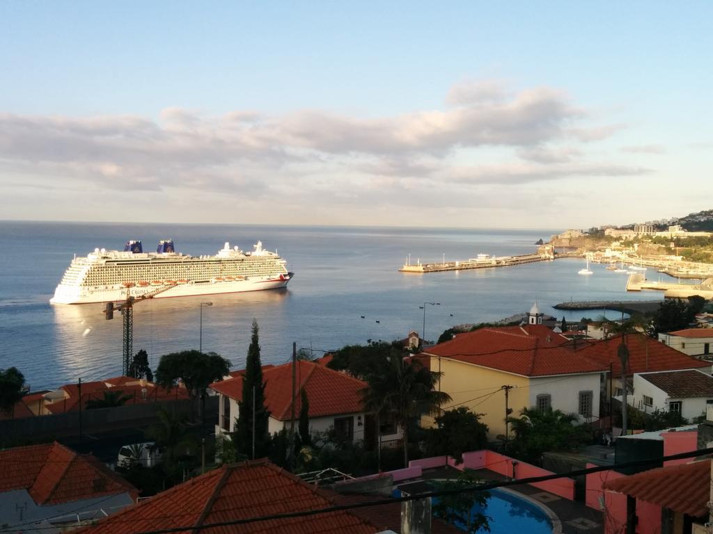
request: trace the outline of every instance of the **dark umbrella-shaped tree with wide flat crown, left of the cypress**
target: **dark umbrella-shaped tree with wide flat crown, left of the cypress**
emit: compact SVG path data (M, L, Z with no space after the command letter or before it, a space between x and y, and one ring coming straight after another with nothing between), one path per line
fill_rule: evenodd
M180 380L192 399L200 398L201 420L205 421L205 389L230 372L230 360L215 352L184 350L161 356L156 369L156 383L170 389Z

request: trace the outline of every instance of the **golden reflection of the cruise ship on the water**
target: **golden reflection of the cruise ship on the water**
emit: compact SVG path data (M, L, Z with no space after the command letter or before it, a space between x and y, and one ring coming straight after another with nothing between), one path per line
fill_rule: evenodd
M133 352L145 349L151 367L155 367L161 355L197 349L200 303L210 302L212 306L202 310L202 348L218 352L239 366L245 355L237 347L249 342L252 318L267 326L261 320L268 315L279 317L288 292L282 288L140 300L133 308ZM113 320L106 320L103 304L53 305L51 310L58 348L56 364L74 376L116 375L123 357L123 316L115 312Z

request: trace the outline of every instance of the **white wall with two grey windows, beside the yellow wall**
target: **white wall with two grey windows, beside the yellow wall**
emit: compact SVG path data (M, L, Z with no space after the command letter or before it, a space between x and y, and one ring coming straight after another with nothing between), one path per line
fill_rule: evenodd
M549 394L552 399L552 409L576 414L579 412L579 393L583 391L592 392L592 415L596 420L599 417L600 373L530 378L530 406L537 405L538 395ZM515 412L519 409L513 408Z

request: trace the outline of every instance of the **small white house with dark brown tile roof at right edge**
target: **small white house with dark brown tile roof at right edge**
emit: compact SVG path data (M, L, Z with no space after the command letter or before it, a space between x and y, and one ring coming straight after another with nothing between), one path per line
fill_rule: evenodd
M713 404L713 377L695 369L637 373L631 404L644 412L679 412L691 420Z

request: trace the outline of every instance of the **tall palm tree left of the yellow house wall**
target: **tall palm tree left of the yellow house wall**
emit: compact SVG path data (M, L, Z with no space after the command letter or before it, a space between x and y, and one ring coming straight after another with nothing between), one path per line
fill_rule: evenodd
M399 355L390 355L388 360L389 365L367 377L361 398L365 409L376 414L377 426L381 416L394 417L404 435L404 465L408 466L409 424L423 414L437 412L451 396L434 389L441 374L426 369L419 360L406 361Z

